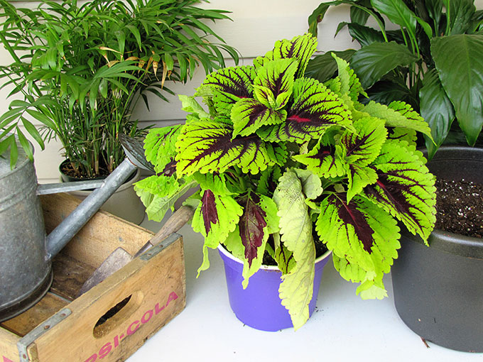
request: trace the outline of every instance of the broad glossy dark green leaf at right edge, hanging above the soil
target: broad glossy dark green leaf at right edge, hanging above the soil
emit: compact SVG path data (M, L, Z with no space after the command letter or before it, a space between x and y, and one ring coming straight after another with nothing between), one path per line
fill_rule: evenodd
M483 35L450 35L431 40L431 55L455 116L474 146L483 126ZM457 56L455 56L457 55Z

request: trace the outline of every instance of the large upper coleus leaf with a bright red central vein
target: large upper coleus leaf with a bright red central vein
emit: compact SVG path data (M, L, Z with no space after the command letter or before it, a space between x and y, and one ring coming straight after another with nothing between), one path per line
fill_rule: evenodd
M301 78L293 86L293 103L285 123L264 126L257 131L270 142L304 143L320 138L332 126L350 127L349 111L342 101L315 79Z

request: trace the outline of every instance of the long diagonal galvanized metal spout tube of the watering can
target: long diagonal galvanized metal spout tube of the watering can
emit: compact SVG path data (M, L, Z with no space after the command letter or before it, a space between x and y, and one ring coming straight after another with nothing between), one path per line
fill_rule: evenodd
M69 214L46 239L47 260L51 260L77 234L82 226L94 216L97 210L116 192L136 170L136 166L128 158L104 179L101 187L94 190L79 206Z

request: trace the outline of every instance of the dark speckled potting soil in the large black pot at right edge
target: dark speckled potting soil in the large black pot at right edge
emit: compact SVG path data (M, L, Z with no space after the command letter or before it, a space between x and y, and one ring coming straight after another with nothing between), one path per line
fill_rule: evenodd
M438 179L436 190L435 229L483 238L483 185Z

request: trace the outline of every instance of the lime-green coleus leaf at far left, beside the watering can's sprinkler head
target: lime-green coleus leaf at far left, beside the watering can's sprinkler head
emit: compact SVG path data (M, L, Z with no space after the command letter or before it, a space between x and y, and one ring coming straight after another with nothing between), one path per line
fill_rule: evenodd
M158 174L165 176L175 172L175 143L180 134L181 125L153 128L146 135L144 150L146 160L154 165Z

